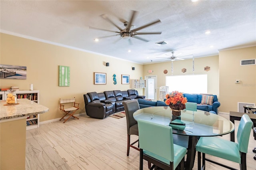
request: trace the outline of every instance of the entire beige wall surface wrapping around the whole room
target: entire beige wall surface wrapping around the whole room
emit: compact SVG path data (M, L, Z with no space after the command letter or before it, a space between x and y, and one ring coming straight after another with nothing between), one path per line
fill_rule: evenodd
M27 67L26 80L0 79L0 87L19 86L21 90L28 90L29 84L34 84L34 89L40 90L40 104L49 108L48 113L40 116L41 121L63 115L58 110L59 98L76 97L81 103L79 113L84 113L83 94L130 89L130 85L121 84L121 74L130 75L130 79L156 75L158 88L165 85L166 75L172 75L170 61L140 65L8 34L0 35L0 63ZM237 102L256 103L256 66L240 66L241 59L253 58L256 58L256 47L220 51L219 56L194 59L194 74L207 73L208 93L218 95L220 112L237 111ZM104 65L106 62L110 63L110 67ZM70 66L70 87L58 86L58 65ZM206 66L210 67L210 71L204 71ZM134 71L132 67L135 67ZM182 68L186 68L187 72L182 73ZM163 73L164 69L168 70L167 74ZM154 72L148 73L148 70ZM192 74L192 59L174 61L173 70L173 75ZM107 73L107 85L94 85L93 72ZM117 85L113 84L113 74L117 76ZM235 84L235 79L242 82ZM143 94L142 89L138 91Z

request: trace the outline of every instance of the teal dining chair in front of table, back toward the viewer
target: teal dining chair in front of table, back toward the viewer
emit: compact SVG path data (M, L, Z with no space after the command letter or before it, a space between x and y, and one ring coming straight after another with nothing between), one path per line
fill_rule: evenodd
M143 160L151 162L153 168L175 170L180 164L184 169L184 156L187 149L173 144L172 127L138 119L140 144L140 170Z

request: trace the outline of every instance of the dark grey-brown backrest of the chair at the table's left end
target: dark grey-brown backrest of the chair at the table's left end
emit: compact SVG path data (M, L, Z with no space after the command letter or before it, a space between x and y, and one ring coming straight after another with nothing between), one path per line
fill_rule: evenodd
M140 109L140 105L137 100L125 101L122 102L122 104L124 105L124 111L126 115L127 134L129 134L130 127L137 124L133 118L133 113Z

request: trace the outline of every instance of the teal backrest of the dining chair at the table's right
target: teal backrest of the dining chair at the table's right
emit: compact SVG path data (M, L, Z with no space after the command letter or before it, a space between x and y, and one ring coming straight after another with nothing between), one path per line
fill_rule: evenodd
M250 117L244 114L241 117L236 135L240 152L247 153L252 125L253 123Z

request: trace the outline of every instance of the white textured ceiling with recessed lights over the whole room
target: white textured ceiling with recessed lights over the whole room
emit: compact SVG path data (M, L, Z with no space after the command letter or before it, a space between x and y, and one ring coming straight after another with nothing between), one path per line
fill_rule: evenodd
M193 54L194 57L218 55L218 50L256 45L255 0L131 0L131 1L0 1L1 32L40 39L46 42L93 51L136 63L154 63L157 57ZM101 17L106 14L118 27L129 21L131 10L138 11L134 28L157 19L161 22L138 32L162 32L138 35L144 42L131 38L132 44ZM134 29L132 28L132 29ZM210 30L206 35L204 32ZM111 36L95 42L94 38ZM166 41L165 45L156 42ZM213 47L210 47L213 46ZM128 52L128 50L131 52Z

